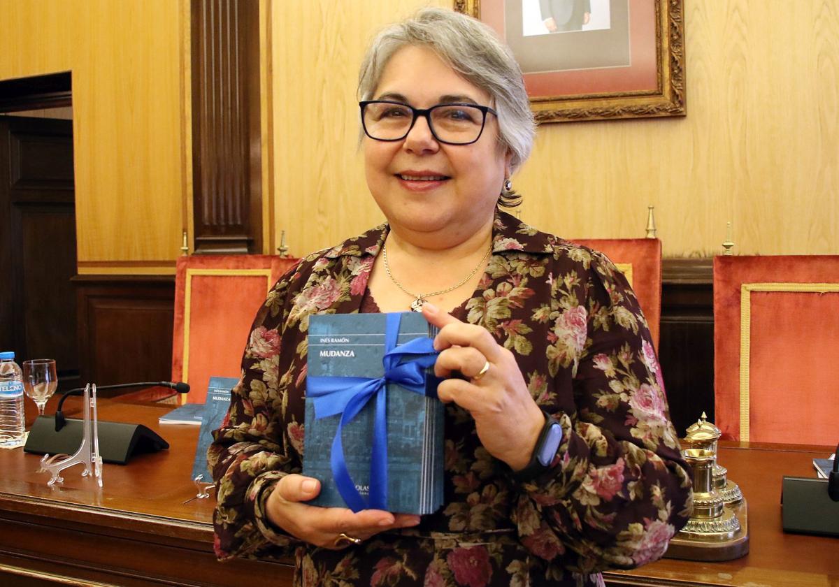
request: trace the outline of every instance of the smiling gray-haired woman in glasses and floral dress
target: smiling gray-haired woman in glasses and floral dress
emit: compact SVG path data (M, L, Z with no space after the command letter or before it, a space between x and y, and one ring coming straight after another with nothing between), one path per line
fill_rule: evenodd
M359 92L367 184L388 223L303 259L253 326L210 460L216 553L296 553L298 584L579 584L664 553L690 512L638 301L597 252L520 224L510 174L533 119L481 23L426 9L384 30ZM500 194L500 197L499 197ZM440 327L446 506L309 506L300 475L315 313L409 306Z

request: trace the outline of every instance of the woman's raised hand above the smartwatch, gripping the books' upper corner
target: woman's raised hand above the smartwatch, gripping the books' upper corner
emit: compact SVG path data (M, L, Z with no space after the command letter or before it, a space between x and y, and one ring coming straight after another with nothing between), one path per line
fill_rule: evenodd
M435 350L440 351L434 371L449 377L460 371L467 379L440 382L437 396L472 414L478 438L490 455L513 470L529 463L545 415L530 396L513 353L498 345L489 332L470 325L426 302L422 313L440 328Z

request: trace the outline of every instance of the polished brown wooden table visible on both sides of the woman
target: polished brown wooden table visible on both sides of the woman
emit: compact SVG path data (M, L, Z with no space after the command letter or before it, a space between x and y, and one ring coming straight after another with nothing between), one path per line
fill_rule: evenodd
M37 472L38 456L0 449L0 584L74 584L65 578L119 585L291 584L287 564L216 562L212 498L184 503L195 495L189 477L198 428L160 426L157 418L171 408L100 401L102 420L143 423L170 444L169 450L138 455L129 465L106 464L102 490L82 478L80 468L66 472L63 486L50 488L49 475ZM828 452L722 443L720 463L748 500L748 555L725 563L665 558L641 569L606 573L607 583L839 585L839 538L781 530L781 477L814 475L813 458Z

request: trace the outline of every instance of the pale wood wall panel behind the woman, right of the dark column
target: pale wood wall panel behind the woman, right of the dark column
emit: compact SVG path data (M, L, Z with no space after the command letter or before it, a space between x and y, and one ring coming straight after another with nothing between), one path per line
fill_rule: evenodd
M382 216L357 152L357 70L380 26L426 2L273 3L274 239L294 255ZM431 4L451 7L452 2ZM386 7L386 8L385 8ZM643 236L664 257L839 250L839 3L685 0L687 117L539 128L513 176L522 218L560 235Z

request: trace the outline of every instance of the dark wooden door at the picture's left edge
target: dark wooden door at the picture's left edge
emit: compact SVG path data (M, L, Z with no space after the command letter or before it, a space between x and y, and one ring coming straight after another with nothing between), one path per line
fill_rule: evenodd
M72 122L0 117L0 347L78 380Z

